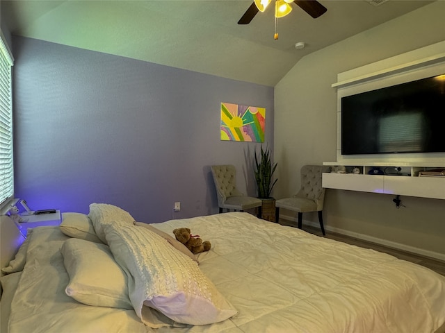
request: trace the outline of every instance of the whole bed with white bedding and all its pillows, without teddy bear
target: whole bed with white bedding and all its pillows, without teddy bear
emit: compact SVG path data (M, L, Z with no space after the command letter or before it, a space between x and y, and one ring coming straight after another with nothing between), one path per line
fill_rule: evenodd
M135 225L92 204L10 254L17 231L2 216L1 332L445 332L444 276L245 212Z

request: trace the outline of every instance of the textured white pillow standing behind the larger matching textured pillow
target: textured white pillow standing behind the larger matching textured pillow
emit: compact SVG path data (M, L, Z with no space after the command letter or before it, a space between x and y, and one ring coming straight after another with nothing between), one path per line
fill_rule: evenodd
M128 212L125 212L120 207L109 205L108 203L92 203L88 216L92 221L97 237L99 237L104 244L107 244L104 234L105 224L120 221L133 225L134 222L133 217L131 217Z

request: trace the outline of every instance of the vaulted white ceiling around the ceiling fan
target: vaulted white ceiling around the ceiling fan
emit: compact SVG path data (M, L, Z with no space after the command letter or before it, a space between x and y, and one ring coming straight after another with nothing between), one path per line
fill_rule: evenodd
M432 1L320 2L318 19L292 3L276 41L273 8L237 24L252 0L1 0L1 10L15 35L275 86L302 56Z

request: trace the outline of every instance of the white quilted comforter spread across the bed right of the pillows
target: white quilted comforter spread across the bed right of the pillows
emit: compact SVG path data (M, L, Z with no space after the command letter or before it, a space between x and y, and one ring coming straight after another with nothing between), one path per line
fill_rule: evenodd
M445 323L445 277L428 268L247 213L156 227L178 225L211 241L200 268L240 312L230 332L421 333Z

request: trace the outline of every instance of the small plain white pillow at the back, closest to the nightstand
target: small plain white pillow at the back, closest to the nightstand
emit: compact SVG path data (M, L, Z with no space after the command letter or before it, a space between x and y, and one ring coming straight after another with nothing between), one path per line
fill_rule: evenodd
M91 219L86 214L63 213L60 231L73 238L102 243L96 235Z

